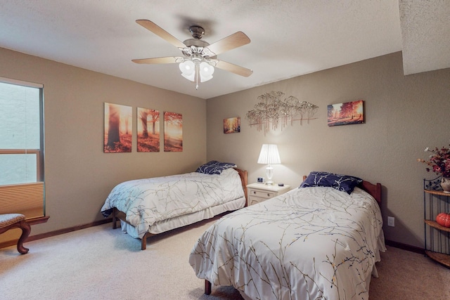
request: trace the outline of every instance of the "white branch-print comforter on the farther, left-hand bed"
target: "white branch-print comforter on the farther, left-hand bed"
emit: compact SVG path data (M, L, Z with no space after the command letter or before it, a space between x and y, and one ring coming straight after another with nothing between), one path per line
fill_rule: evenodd
M113 188L101 208L109 216L113 207L127 214L139 237L157 221L201 211L244 197L234 169L209 175L198 172L125 181Z

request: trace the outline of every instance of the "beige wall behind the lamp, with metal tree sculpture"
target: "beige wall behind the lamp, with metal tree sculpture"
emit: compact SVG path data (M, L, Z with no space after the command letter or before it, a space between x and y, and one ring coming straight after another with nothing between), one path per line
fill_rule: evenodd
M243 79L245 80L245 79ZM309 124L257 131L245 113L269 91L319 106ZM327 105L364 100L366 124L327 126ZM249 182L265 176L257 164L262 143L276 143L281 165L274 181L297 187L309 171L333 171L383 184L382 211L395 217L388 240L423 247L423 178L416 161L425 147L450 143L450 69L403 75L401 53L364 60L207 100L207 159L236 162ZM224 118L241 117L241 132L224 134Z

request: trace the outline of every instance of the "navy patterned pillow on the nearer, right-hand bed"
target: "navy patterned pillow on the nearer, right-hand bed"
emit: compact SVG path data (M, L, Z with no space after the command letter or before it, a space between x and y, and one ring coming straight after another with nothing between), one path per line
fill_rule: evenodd
M329 186L350 195L356 185L359 185L359 183L361 182L363 182L361 178L354 176L312 171L302 182L300 188L309 188L313 186Z

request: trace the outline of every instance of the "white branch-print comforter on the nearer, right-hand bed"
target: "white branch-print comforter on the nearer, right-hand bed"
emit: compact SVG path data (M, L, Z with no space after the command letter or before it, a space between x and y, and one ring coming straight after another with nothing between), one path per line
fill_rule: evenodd
M249 299L368 299L382 226L364 190L297 188L219 219L189 263L198 278Z

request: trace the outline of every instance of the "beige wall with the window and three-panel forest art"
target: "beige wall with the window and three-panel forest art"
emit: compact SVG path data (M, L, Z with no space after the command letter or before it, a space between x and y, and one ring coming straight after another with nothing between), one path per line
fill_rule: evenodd
M206 101L0 48L0 77L44 84L47 223L32 235L103 219L121 181L195 171L206 159ZM103 153L105 102L133 107L133 150ZM136 107L183 115L183 152L136 152ZM162 122L160 131L162 131Z

